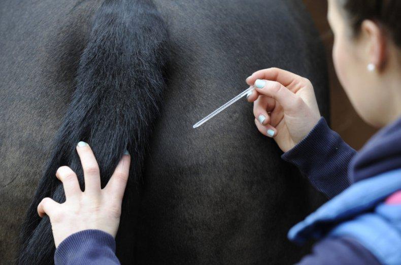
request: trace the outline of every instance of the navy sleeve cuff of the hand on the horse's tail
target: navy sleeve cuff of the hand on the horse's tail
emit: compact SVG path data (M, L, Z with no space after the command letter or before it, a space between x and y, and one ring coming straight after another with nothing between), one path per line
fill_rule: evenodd
M112 235L101 230L83 230L64 239L54 253L55 265L120 264Z

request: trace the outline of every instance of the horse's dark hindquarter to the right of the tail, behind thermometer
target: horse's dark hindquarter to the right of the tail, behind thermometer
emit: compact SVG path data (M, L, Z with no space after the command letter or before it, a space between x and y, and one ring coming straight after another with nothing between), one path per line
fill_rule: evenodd
M286 232L310 211L308 184L259 134L252 105L244 98L192 125L247 88L249 74L273 65L310 77L322 100L325 68L316 57L323 54L310 53L317 39L276 1L183 2L157 2L173 59L146 164L138 259L296 261L300 250Z

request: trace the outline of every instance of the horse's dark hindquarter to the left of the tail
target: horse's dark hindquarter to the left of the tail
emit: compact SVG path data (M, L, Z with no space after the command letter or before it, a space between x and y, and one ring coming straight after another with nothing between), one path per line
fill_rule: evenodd
M0 3L0 263L17 253L20 225L74 91L96 5ZM88 5L92 4L92 5Z

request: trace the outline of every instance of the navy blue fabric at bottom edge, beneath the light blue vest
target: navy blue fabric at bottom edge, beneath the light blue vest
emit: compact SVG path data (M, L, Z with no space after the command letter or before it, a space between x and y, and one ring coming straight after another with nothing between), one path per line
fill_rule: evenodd
M316 243L312 253L297 265L380 265L376 257L356 240L351 238L327 238Z

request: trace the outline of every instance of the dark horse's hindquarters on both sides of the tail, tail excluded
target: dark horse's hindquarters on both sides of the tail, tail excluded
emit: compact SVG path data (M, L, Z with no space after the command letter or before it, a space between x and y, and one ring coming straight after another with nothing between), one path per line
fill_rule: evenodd
M308 184L256 130L252 105L243 99L197 129L192 124L247 88L249 74L271 66L311 78L320 107L327 106L323 54L308 37L316 38L304 11L287 1L155 2L172 39L169 87L140 188L138 225L129 226L136 249L118 242L133 253L120 259L295 261L299 251L286 231L309 211ZM19 225L101 1L76 3L0 3L0 262L16 253Z

